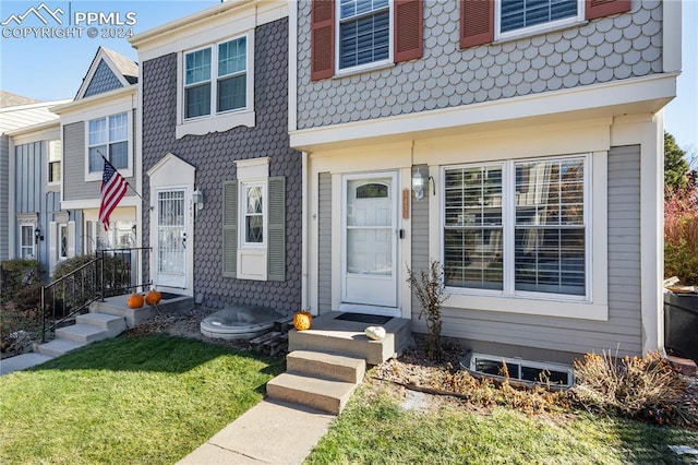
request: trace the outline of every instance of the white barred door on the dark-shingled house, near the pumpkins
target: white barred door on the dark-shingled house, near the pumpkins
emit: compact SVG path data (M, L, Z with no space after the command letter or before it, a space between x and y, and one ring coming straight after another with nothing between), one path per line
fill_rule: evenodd
M186 287L186 190L157 190L156 283Z

